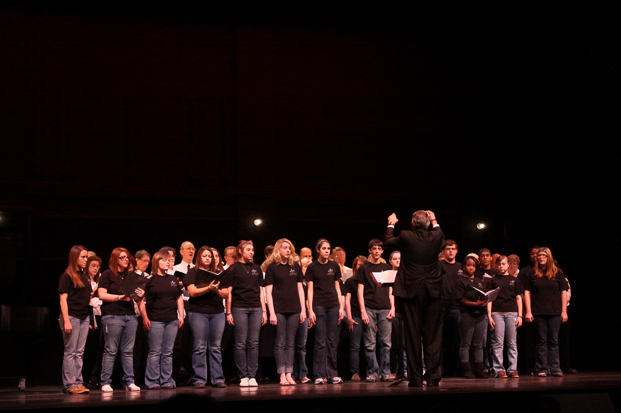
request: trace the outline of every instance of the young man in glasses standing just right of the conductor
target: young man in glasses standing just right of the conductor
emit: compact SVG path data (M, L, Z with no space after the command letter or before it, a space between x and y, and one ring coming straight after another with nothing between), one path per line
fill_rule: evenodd
M442 252L444 259L440 261L440 267L442 267L443 284L446 291L442 298L442 376L449 377L458 376L460 373L458 371L461 343L460 306L453 286L464 274L461 269L461 262L455 259L457 242L447 239Z

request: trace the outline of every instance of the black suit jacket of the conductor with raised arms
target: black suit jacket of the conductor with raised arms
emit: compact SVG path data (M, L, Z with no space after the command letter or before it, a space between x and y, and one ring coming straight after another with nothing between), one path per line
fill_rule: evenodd
M384 231L384 247L401 251L401 265L392 286L392 295L413 298L427 291L434 298L443 295L442 267L438 253L446 242L439 226L427 230L401 231L394 236L394 228Z

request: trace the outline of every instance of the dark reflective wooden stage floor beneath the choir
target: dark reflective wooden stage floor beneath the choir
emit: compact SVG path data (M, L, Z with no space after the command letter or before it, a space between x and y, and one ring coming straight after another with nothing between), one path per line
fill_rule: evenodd
M91 391L90 394L63 394L58 387L0 389L0 411L35 411L40 409L88 409L93 411L170 411L179 413L200 407L212 413L238 412L341 412L351 409L381 411L507 411L614 412L619 411L621 372L589 372L563 378L467 380L445 378L437 388L408 388L407 381L398 386L389 383L345 381L343 384L261 384L258 388L231 385L225 389L178 388L113 393ZM556 404L555 404L556 402ZM550 406L548 406L550 404ZM558 406L558 408L556 407ZM616 407L616 409L615 409ZM249 410L248 410L249 409Z

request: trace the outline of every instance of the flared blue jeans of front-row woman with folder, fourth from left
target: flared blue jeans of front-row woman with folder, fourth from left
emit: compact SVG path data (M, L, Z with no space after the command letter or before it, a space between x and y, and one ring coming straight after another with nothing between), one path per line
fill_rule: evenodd
M194 384L207 383L207 348L209 348L209 370L211 384L224 382L222 371L222 334L226 317L224 313L202 314L190 311L189 323L194 337L192 368ZM237 324L237 320L233 320Z

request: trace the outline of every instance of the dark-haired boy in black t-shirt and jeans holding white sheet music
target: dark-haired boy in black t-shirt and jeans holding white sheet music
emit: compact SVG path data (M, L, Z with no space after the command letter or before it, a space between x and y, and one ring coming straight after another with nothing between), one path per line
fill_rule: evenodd
M362 321L365 324L365 355L367 363L366 381L374 383L378 378L392 381L390 373L391 320L394 317L394 296L392 287L381 287L373 277L374 272L392 270L392 265L381 262L383 242L372 239L369 242L371 259L356 272L358 281L358 303ZM380 361L375 355L375 332L379 335Z

